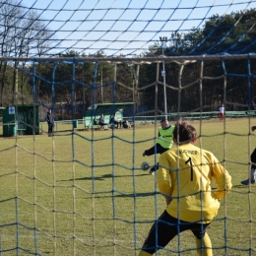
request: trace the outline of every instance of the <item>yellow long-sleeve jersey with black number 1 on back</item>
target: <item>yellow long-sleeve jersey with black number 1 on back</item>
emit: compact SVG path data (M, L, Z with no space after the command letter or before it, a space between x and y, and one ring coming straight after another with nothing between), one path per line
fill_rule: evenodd
M184 222L210 223L218 213L218 199L231 189L231 176L217 158L193 144L172 148L160 155L158 186L170 196L167 213ZM212 191L212 178L218 185Z

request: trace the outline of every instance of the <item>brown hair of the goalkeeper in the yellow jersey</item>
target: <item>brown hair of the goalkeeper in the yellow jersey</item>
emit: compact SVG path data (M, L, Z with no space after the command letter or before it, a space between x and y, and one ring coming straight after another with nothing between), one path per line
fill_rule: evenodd
M178 144L189 143L197 138L197 130L189 122L181 121L175 125L173 138L177 140Z

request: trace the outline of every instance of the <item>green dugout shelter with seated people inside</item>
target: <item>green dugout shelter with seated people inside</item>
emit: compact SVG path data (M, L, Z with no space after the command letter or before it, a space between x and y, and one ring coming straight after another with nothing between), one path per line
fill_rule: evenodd
M83 118L84 126L94 126L98 125L98 119L100 114L104 114L104 119L106 123L111 122L111 116L116 113L118 119L123 119L123 114L125 108L131 107L134 102L120 102L120 103L98 103L91 105L85 113Z

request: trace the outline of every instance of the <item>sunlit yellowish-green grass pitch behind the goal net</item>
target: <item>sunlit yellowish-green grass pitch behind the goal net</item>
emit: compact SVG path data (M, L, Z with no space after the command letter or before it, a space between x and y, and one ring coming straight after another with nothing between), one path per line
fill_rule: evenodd
M256 185L240 181L248 176L256 145L249 127L256 120L193 123L197 146L212 151L232 176L232 191L208 228L214 255L252 255ZM158 160L142 157L157 128L1 137L0 255L138 255L165 204L156 177L140 170L142 161ZM158 255L196 255L193 249L187 231Z

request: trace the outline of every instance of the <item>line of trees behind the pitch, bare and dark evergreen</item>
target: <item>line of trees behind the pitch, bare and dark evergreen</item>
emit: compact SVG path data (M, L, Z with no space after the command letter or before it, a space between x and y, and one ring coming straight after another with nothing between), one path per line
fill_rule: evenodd
M7 0L0 6L0 14L4 17L0 21L2 56L30 57L34 51L39 57L43 56L54 34L37 20L36 12L23 8L16 0ZM25 16L27 19L23 19ZM255 16L255 9L245 13L234 12L224 17L214 15L201 29L173 33L163 54L182 56L254 52ZM156 42L140 56L161 54L161 45ZM94 55L86 55L69 50L60 56L104 57L105 53L98 51ZM162 68L162 63L149 65L127 62L115 65L106 62L77 61L74 64L52 61L31 64L1 61L0 104L14 104L18 85L19 103L36 100L49 105L54 100L55 103L61 102L69 106L77 102L82 109L87 109L93 102L135 101L136 105L146 105L149 110L162 110ZM250 61L229 59L205 60L204 63L170 62L164 63L164 69L168 112L202 109L202 106L205 111L217 110L218 108L214 108L224 101L224 97L235 103L226 105L226 109L240 110L250 104L250 96L256 96L256 63L253 58ZM156 81L161 82L158 87ZM152 86L147 87L148 85Z

